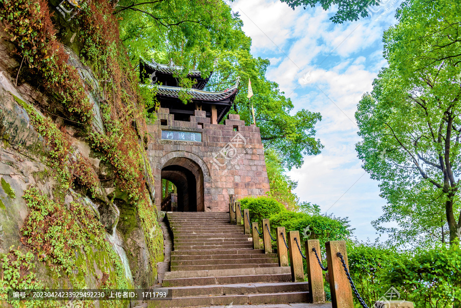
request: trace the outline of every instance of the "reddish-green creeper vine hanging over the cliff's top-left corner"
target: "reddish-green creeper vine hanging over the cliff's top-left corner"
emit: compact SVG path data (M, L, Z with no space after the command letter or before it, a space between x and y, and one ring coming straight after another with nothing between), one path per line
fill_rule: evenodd
M0 2L0 22L9 39L20 50L22 62L35 69L43 86L59 99L81 122L90 123L93 106L77 70L67 64L69 56L55 36L46 0L4 0Z

